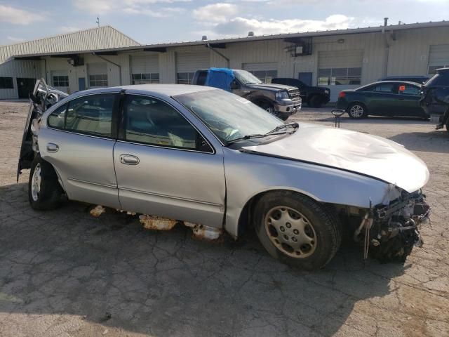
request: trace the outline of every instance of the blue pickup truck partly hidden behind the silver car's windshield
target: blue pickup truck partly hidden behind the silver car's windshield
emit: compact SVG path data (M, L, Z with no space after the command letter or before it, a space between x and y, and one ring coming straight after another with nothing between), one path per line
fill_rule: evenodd
M297 88L264 84L246 70L229 68L197 70L192 84L213 86L239 95L284 121L301 109L302 100Z

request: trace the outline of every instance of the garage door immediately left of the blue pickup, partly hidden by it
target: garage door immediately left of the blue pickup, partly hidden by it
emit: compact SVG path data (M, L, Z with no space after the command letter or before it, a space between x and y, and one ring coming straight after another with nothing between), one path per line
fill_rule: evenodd
M209 52L176 53L177 84L190 84L196 70L210 67Z

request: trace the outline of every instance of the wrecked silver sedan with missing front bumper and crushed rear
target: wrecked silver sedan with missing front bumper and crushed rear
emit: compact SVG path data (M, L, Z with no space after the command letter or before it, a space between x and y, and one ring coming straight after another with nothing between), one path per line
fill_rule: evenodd
M18 174L33 209L62 196L237 239L255 227L268 253L325 266L343 233L380 260L405 260L429 217L424 162L366 133L281 119L207 86L147 84L65 97L36 84ZM59 100L58 100L59 99ZM51 102L49 101L51 100ZM58 102L55 102L58 100Z

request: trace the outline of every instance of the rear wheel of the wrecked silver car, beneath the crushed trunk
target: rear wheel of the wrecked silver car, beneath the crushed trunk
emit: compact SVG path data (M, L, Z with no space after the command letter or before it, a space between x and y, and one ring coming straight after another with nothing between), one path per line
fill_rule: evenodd
M36 169L40 170L39 189L36 190L32 185L34 184L34 172ZM38 175L39 173L36 173ZM39 192L37 192L39 191ZM32 209L36 211L48 211L56 209L61 204L62 188L58 182L58 176L50 163L41 159L37 155L31 164L28 180L28 200Z

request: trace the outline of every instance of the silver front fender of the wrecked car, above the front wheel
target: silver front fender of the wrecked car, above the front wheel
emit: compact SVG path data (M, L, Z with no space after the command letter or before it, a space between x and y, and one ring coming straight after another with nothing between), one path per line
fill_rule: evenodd
M389 184L356 173L224 149L227 184L225 229L234 237L245 204L269 190L292 190L316 201L368 208L382 203Z

